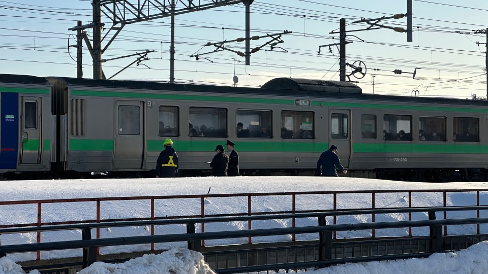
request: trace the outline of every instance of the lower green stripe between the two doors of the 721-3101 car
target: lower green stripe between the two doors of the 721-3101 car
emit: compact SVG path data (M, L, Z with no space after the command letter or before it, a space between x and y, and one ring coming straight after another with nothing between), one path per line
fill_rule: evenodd
M225 141L176 141L174 149L178 151L214 151L217 145L225 147ZM238 141L235 150L238 152L322 152L328 149L328 143L289 143L269 141ZM148 140L147 151L162 151L163 141Z

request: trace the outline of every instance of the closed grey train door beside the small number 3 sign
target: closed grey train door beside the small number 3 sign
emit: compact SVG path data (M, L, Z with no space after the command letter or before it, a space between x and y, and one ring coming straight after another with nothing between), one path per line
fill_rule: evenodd
M142 101L115 101L114 169L140 169L144 153Z

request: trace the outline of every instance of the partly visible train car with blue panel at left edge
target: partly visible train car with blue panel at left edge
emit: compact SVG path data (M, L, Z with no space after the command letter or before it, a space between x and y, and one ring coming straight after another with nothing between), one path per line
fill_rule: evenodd
M51 85L40 77L0 75L0 178L50 171L54 128Z

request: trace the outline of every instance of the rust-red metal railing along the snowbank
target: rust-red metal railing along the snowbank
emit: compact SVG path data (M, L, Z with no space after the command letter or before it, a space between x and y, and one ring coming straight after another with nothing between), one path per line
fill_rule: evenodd
M380 193L408 193L408 208L412 208L412 193L442 193L443 194L443 207L447 205L447 193L462 193L462 192L475 192L476 193L476 205L480 205L480 193L487 192L488 189L420 189L420 190L360 190L360 191L306 191L306 192L266 192L266 193L229 193L229 194L207 194L207 195L166 195L166 196L131 196L131 197L99 197L99 198L73 198L73 199L46 199L46 200L19 200L19 201L0 201L0 210L4 205L19 205L19 204L37 204L37 221L35 223L23 223L23 224L2 224L0 228L7 227L26 227L26 226L45 226L45 225L58 225L58 224L77 224L77 223L101 223L101 222L114 222L114 221L142 221L142 220L161 220L161 219L181 219L181 218L197 218L197 217L219 217L219 216L252 216L252 215L267 215L267 214L283 214L283 213L308 213L308 212L331 212L338 210L338 195L343 194L371 194L371 208L360 209L376 209L376 195ZM301 199L307 199L309 195L332 195L333 205L331 209L320 210L297 210L297 196ZM291 196L291 209L285 211L270 211L270 212L253 212L252 200L256 197L263 196L283 196L283 200L287 199L287 196ZM238 213L222 213L222 214L205 214L205 199L216 197L247 197L247 212ZM155 216L155 201L157 200L170 200L170 199L200 199L200 215L179 215L179 216ZM150 210L149 216L139 218L101 218L101 203L105 201L130 201L130 200L149 200ZM234 199L239 200L239 199ZM71 202L96 202L96 219L87 220L71 220L71 221L57 221L57 222L42 222L42 205L50 203L71 203ZM473 204L474 205L474 204ZM358 208L341 209L341 210L357 210ZM444 219L447 219L447 213L444 211ZM476 212L476 217L479 218L479 210ZM408 220L412 220L412 214L408 214ZM372 214L372 222L376 221L375 214ZM333 217L333 224L337 224L337 217ZM295 219L292 219L292 226L295 227ZM248 222L248 229L252 228L251 221ZM479 233L479 224L477 224L476 231ZM151 226L151 235L154 235L155 228ZM201 224L201 231L205 232L205 225ZM100 229L97 228L97 238L100 238ZM409 235L412 235L412 228L409 228ZM444 235L447 235L447 226L444 226ZM375 237L375 230L372 230L372 236ZM334 232L334 238L337 235ZM292 235L292 240L295 241L295 235ZM252 243L252 238L249 237L249 243ZM37 233L37 243L41 243L41 233ZM204 245L204 242L202 242ZM151 244L151 250L154 250L154 244ZM37 259L40 259L40 252L37 253Z

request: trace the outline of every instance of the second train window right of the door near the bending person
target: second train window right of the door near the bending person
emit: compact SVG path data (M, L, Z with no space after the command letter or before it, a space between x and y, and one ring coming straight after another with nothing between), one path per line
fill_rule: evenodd
M412 116L383 116L383 140L412 141Z

